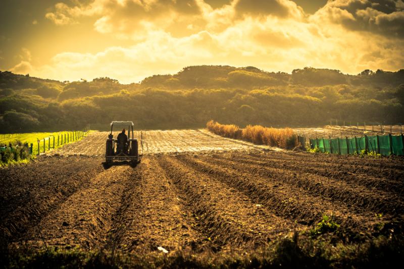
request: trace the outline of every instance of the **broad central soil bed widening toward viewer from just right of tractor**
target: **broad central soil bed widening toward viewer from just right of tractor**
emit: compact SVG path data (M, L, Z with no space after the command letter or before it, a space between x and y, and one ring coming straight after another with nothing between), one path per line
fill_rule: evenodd
M140 254L159 251L159 246L168 251L216 248L155 157L145 156L129 183L107 243L109 249Z

